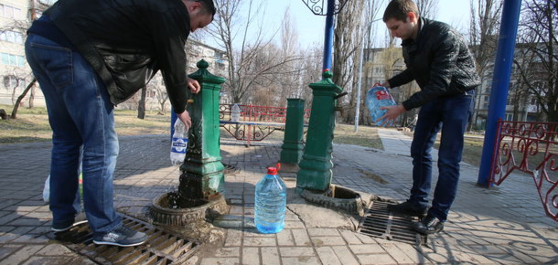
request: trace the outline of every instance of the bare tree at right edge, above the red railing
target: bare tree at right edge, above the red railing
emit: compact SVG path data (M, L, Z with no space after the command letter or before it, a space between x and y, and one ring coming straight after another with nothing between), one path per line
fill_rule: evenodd
M558 121L557 24L558 1L523 2L514 65L549 122Z

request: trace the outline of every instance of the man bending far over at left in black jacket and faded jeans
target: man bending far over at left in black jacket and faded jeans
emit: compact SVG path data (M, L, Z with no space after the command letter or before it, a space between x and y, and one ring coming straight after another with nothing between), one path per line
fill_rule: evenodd
M52 230L89 222L95 244L128 247L145 233L125 227L113 205L118 156L114 105L161 70L174 111L186 127L186 39L215 15L213 0L60 0L27 31L26 57L45 95L52 134ZM83 146L83 199L78 167Z

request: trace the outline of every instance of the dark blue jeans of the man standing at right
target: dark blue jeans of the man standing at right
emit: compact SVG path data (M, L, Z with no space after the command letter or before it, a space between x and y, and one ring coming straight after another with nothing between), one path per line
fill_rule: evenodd
M445 221L455 199L459 180L459 162L463 152L463 135L470 115L474 90L468 94L433 100L422 106L411 144L413 186L411 203L420 208L428 205L427 196L432 181L432 146L436 134L442 131L438 152L438 182L432 207L428 213Z

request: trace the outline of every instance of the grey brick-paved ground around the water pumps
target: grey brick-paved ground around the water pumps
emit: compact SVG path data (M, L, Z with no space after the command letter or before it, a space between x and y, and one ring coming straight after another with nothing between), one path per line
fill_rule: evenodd
M333 181L385 199L404 200L411 186L409 139L383 130L381 137L385 152L335 144ZM390 141L400 145L392 148ZM120 143L115 204L126 214L145 216L154 197L178 185L179 170L169 162L169 137L121 137ZM221 144L223 162L240 168L225 179L230 214L253 217L254 185L265 167L278 160L281 143L254 143L246 148L222 139ZM49 171L50 144L0 145L0 161L0 264L94 264L45 236L51 214L41 191ZM512 175L502 186L484 189L475 186L477 174L478 168L461 166L450 219L444 232L429 237L425 246L370 238L348 227L305 223L288 210L281 233L223 229L223 242L203 245L187 264L558 263L558 225L543 214L532 179ZM296 184L292 176L283 175L289 187Z

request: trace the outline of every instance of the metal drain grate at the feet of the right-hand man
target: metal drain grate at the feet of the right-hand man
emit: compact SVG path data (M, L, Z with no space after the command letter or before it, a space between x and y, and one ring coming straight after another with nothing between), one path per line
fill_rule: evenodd
M416 233L411 228L413 220L419 220L416 217L393 215L387 209L390 204L396 204L392 201L373 200L370 208L367 209L364 217L360 221L357 230L360 234L370 237L394 240L410 244L420 245L426 242L426 237Z

